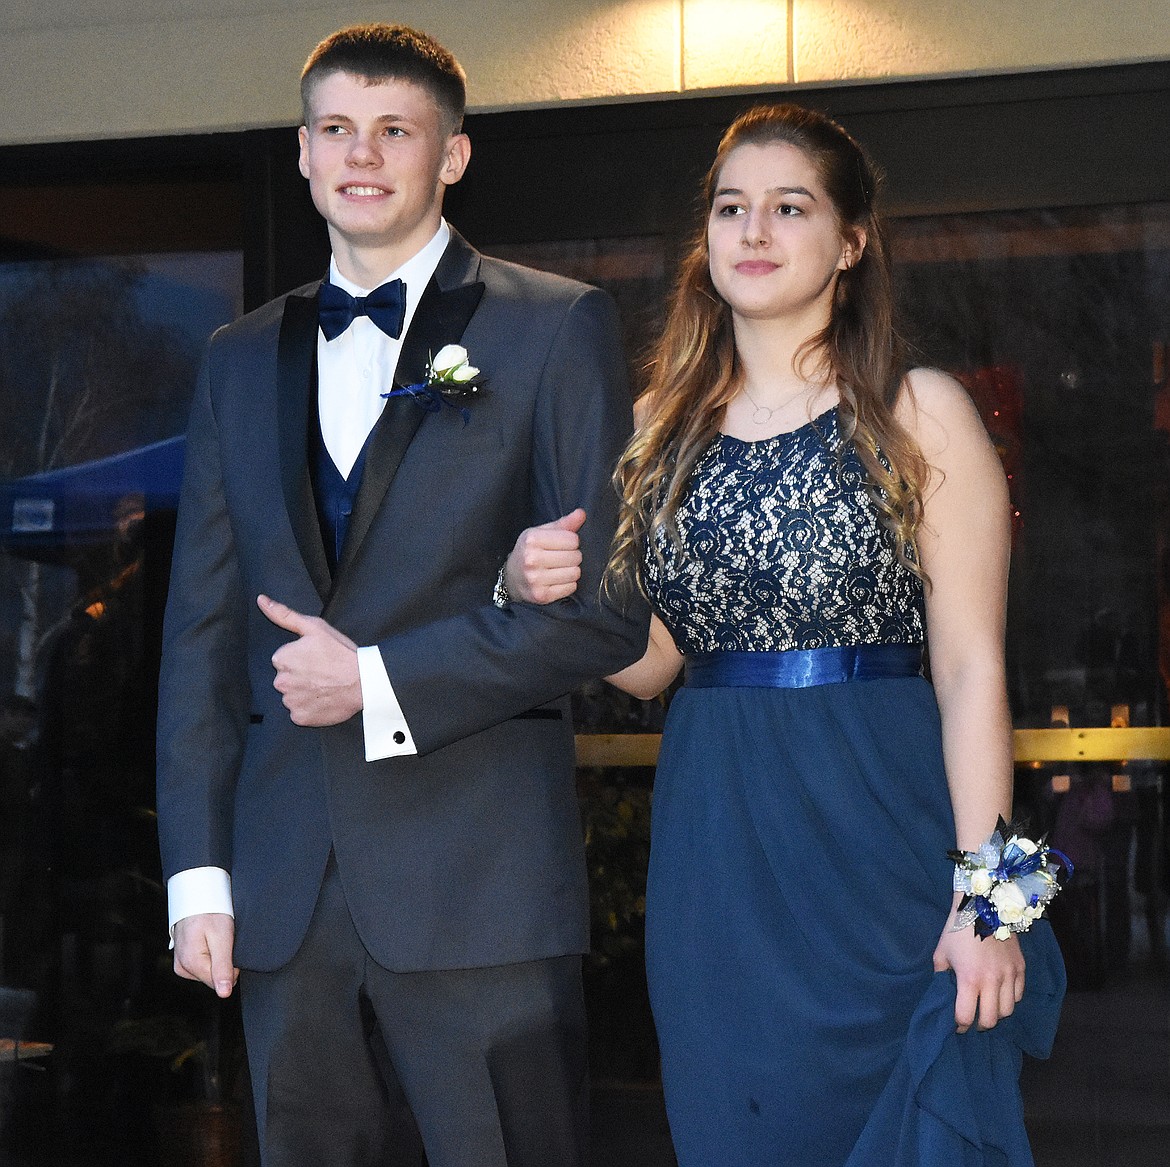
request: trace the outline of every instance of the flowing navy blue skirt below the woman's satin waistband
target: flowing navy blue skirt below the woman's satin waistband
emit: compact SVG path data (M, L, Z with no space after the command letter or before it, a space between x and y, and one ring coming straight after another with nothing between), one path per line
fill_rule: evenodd
M1020 1059L1051 1048L1064 965L1040 921L1024 1002L955 1032L931 960L954 842L922 678L676 694L647 968L681 1167L1032 1163Z

